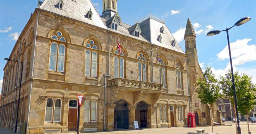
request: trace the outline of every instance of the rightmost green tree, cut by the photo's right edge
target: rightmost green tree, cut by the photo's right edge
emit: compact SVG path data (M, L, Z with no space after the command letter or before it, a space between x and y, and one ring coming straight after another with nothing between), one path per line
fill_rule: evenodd
M249 113L251 109L256 105L256 91L255 84L251 81L252 77L249 77L247 74L241 75L238 83L237 83L237 105L238 111L241 114L247 116L247 126L248 133L250 134L249 128Z

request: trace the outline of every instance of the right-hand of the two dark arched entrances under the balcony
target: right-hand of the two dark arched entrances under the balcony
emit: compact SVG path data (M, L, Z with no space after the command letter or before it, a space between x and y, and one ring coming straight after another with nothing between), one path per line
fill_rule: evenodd
M147 110L148 110L148 104L140 101L137 103L137 108L135 111L135 118L139 123L140 127L147 127Z

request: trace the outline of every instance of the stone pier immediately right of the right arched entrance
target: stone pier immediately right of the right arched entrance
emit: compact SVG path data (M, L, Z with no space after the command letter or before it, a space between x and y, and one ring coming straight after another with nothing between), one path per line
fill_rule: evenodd
M147 128L156 128L156 108L148 106L147 110Z

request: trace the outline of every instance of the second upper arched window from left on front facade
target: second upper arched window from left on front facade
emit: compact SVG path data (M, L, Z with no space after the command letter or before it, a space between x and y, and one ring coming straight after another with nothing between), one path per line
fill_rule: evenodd
M95 42L93 40L88 41L86 44L87 50L85 51L85 71L86 76L97 77L97 62L98 54Z

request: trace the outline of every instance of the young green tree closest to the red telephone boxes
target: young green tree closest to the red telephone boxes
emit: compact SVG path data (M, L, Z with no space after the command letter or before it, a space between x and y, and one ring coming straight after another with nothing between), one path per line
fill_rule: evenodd
M211 114L211 124L213 132L213 103L221 96L220 87L218 85L218 80L215 79L215 75L212 72L210 66L206 66L206 71L203 73L204 78L197 79L196 92L198 93L198 98L201 99L202 103L210 104L210 114Z

